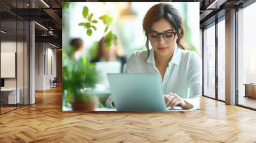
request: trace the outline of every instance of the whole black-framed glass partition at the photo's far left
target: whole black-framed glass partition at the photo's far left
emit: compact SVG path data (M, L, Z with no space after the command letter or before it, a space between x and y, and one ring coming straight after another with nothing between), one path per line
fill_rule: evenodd
M4 3L10 2L0 2ZM12 1L12 8L27 8L26 3L28 1ZM4 60L10 59L14 65L12 74L1 75L4 84L0 92L0 114L3 114L29 103L29 22L3 8L0 11L6 13L0 15L1 73L11 72L3 68Z

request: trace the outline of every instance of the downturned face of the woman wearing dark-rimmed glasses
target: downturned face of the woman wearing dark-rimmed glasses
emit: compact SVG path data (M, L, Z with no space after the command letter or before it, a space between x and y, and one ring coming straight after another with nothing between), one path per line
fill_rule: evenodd
M168 56L173 53L177 35L175 34L175 29L168 20L163 18L154 22L149 33L148 40L157 56Z

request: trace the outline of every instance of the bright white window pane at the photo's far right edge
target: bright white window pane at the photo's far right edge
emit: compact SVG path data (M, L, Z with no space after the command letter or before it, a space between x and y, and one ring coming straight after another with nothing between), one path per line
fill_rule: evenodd
M256 3L238 11L238 104L256 109Z

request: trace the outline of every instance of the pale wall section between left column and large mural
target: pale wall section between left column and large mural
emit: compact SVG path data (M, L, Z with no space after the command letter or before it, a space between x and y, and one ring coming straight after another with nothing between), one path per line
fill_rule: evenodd
M50 79L56 77L56 49L53 48L49 43L36 43L36 90L51 88Z

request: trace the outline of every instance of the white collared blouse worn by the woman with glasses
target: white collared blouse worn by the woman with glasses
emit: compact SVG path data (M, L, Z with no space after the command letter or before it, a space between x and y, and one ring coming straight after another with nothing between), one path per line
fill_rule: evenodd
M127 62L125 73L154 73L161 81L164 94L176 93L194 105L192 110L200 107L201 63L198 54L189 50L182 50L175 45L172 60L169 62L164 78L156 68L154 50L135 51ZM163 80L162 80L163 79ZM113 99L109 96L106 105L113 107Z

